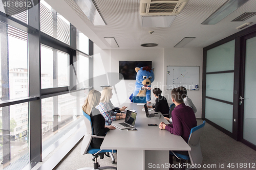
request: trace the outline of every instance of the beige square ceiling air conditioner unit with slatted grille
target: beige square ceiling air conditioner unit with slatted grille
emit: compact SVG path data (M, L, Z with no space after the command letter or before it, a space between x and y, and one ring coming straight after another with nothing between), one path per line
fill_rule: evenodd
M140 15L177 15L185 7L187 2L188 0L141 0Z

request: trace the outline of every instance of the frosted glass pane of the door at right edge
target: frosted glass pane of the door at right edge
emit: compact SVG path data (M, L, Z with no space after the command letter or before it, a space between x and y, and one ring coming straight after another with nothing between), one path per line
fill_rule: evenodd
M256 145L255 65L256 65L256 37L253 37L246 40L245 86L244 86L244 100L242 102L244 103L243 138Z

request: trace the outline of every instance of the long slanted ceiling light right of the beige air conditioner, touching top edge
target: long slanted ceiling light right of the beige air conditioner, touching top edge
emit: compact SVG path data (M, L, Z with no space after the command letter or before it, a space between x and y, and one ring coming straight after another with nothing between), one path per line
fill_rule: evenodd
M223 18L231 14L233 11L241 7L244 3L249 0L228 0L225 4L223 4L217 11L212 13L205 21L203 21L202 25L215 25Z

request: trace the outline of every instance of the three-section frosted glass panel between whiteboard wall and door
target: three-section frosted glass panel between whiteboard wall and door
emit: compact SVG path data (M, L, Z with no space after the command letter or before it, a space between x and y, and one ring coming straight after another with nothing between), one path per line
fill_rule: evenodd
M232 133L234 40L207 51L205 118Z

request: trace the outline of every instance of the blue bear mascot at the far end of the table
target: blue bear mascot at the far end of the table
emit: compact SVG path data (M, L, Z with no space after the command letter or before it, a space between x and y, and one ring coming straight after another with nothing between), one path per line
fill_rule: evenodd
M135 71L137 72L136 75L136 83L135 83L135 90L133 94L130 96L131 102L134 102L135 96L145 97L145 101L151 100L151 90L142 89L142 87L151 87L151 83L155 80L154 75L154 68L151 69L148 66L145 67L136 67ZM144 103L144 102L141 102Z

